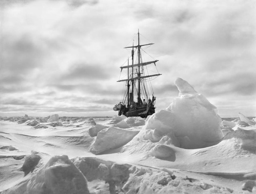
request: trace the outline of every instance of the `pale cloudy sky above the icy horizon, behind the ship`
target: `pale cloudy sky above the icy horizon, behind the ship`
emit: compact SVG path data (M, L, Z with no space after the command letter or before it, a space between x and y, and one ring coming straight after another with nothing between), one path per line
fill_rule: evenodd
M256 116L255 21L250 0L2 0L0 115L117 114L123 47L139 28L159 60L157 110L180 77L220 116Z

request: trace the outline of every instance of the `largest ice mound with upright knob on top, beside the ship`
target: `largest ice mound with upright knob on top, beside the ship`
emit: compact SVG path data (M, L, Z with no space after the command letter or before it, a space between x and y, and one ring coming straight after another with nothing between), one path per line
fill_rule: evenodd
M223 133L217 108L185 80L177 78L175 84L179 96L168 108L153 114L139 135L144 140L186 149L218 144Z

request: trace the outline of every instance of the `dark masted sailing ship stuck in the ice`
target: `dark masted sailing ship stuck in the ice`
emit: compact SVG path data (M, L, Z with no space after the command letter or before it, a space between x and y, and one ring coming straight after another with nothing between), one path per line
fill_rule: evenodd
M133 43L132 46L124 47L126 49L131 49L132 52L131 56L128 58L128 64L120 67L121 72L123 69L127 69L127 77L126 79L118 80L117 82L125 82L126 86L121 102L116 104L113 110L118 111L119 116L140 116L146 118L148 115L154 114L156 109L156 96L154 96L150 80L162 74L159 74L156 68L156 62L158 62L158 60L154 59L148 62L142 61L142 52L145 52L144 48L146 46L151 46L154 43L140 44L141 34L139 33L139 30L137 35L138 44L136 46L134 46ZM129 60L132 61L131 65L129 65ZM154 65L157 74L148 74L149 65ZM151 86L151 88L149 86ZM151 89L151 94L149 89ZM150 98L151 95L152 98Z

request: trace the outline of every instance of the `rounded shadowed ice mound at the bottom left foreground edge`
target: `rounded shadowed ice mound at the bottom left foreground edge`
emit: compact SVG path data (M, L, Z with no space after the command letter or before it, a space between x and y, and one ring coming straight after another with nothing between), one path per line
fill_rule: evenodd
M28 194L89 194L87 180L68 156L54 156L27 184Z

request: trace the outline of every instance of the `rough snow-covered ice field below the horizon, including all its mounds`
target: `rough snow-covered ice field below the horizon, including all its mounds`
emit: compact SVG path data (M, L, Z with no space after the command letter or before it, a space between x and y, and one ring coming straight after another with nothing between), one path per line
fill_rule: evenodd
M256 120L192 86L146 120L0 118L0 193L256 193Z

